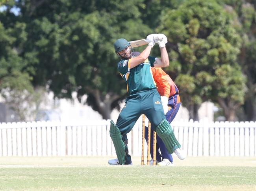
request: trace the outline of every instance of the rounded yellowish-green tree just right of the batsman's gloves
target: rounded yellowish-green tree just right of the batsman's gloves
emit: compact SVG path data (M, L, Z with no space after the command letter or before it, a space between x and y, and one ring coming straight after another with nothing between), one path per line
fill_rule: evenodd
M161 16L158 32L166 34L169 40L167 48L171 49L171 62L168 70L178 74L176 84L181 90L182 102L189 110L189 118L198 120L200 104L212 100L221 103L221 107L228 107L230 113L227 111L225 116L227 120L233 120L234 109L243 103L245 79L237 67L241 38L232 26L230 15L213 0L186 1L178 9L171 9ZM217 69L223 65L236 67L237 78L242 82L235 78L218 84ZM236 89L223 87L229 83ZM236 91L240 92L242 100L229 97Z

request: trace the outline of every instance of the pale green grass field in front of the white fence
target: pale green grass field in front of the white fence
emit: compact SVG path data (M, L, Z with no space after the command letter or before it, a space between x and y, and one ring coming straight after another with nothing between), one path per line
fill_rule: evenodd
M109 166L112 157L0 157L0 190L255 191L256 157L174 158L174 166Z

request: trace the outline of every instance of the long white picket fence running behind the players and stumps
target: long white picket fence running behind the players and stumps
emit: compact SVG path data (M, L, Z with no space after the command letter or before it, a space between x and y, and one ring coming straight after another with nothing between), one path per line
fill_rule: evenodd
M139 118L128 133L134 156L141 155L141 124ZM205 119L171 125L188 156L256 156L256 122ZM0 156L115 156L109 128L110 120L2 123Z

